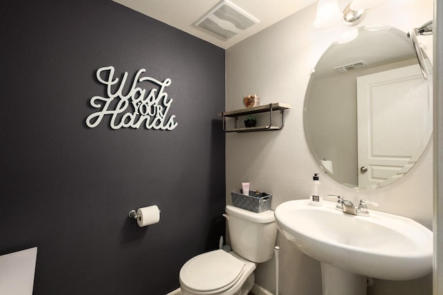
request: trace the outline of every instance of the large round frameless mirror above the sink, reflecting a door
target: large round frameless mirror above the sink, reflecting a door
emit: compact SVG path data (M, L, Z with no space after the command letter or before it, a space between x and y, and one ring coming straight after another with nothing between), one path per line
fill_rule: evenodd
M431 81L397 28L363 26L329 46L311 74L303 109L320 168L363 190L403 176L431 138Z

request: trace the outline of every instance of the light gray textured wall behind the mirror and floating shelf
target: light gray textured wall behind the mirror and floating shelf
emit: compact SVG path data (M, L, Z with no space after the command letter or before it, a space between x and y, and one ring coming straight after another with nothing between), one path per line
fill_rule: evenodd
M245 94L257 93L262 104L286 102L285 127L280 132L226 134L226 202L231 190L242 181L251 189L273 194L272 208L291 199L307 199L311 175L318 172L303 131L302 107L309 72L334 42L349 30L343 24L314 28L316 5L311 5L278 24L246 39L226 51L226 110L242 108ZM433 17L432 0L389 0L372 8L361 25L387 24L405 33ZM428 47L427 49L429 49ZM432 55L432 53L430 54ZM380 202L380 211L404 215L431 228L433 217L433 149L408 174L386 188L372 193L352 194L350 188L323 175L325 193L349 199L365 198ZM289 244L280 233L280 292L321 294L320 265ZM256 283L273 291L274 260L258 265ZM407 282L376 280L368 294L431 294L431 276Z

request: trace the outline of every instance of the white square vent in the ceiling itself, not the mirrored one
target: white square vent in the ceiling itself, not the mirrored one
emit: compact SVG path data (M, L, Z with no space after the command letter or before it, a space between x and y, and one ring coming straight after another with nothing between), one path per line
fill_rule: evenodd
M194 26L227 40L259 21L229 1L221 1Z

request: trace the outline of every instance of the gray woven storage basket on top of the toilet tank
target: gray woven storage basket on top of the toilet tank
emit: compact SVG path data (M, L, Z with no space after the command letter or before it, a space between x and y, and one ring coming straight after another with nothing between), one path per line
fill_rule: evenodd
M230 192L235 207L243 208L255 213L262 213L271 209L272 195L260 193L255 197L255 191L249 190L249 195L243 195L242 190Z

